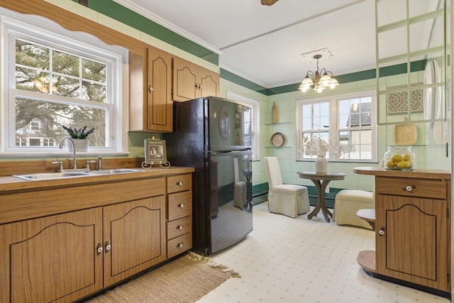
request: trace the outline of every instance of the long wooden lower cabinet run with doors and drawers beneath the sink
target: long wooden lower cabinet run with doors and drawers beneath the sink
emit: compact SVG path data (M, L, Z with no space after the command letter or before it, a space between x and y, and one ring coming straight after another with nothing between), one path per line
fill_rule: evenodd
M79 199L61 196L62 189L34 192L34 199L29 192L1 196L20 201L16 211L28 202L95 206L0 224L0 302L74 302L192 247L191 174L113 184L77 187L86 190ZM140 190L129 199L110 196L126 186Z

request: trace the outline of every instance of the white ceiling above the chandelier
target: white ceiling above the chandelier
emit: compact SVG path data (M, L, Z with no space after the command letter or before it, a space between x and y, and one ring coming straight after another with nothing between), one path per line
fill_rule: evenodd
M307 70L316 70L318 53L320 69L335 76L375 68L373 0L279 0L272 6L260 0L115 1L219 53L221 68L263 87L301 82ZM390 20L405 12L405 0L384 1L391 4L383 13ZM411 1L422 11L438 2ZM416 43L426 43L424 35Z

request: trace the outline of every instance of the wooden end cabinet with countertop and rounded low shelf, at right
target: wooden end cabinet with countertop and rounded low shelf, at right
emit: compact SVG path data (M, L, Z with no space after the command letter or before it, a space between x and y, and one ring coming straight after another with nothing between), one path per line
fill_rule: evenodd
M375 176L375 251L358 263L372 277L450 297L450 173L355 167Z

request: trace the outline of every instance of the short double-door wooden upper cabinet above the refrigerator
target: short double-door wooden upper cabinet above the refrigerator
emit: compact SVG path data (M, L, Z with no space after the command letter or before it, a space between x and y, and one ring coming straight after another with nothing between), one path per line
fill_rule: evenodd
M173 62L173 100L218 96L219 74L179 57Z

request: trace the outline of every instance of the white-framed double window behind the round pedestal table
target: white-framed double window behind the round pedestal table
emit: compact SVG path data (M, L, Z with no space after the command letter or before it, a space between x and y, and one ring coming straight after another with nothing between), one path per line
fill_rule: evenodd
M306 145L321 139L328 160L377 162L376 99L370 91L297 101L297 159L315 158Z

